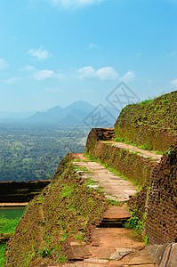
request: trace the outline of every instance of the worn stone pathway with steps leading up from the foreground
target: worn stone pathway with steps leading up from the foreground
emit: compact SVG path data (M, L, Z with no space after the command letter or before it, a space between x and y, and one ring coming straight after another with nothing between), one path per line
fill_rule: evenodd
M75 158L77 174L85 180L92 179L89 187L102 188L105 197L120 201L122 206L109 206L103 214L101 224L91 231L90 252L84 261L60 263L64 267L155 267L157 264L149 255L149 250L134 231L125 229L130 214L125 208L125 200L136 193L137 188L98 163L84 158L84 154L70 154ZM108 226L109 225L109 226ZM114 225L114 227L112 227ZM115 227L117 225L117 227ZM107 226L107 227L105 227ZM76 244L74 244L76 246ZM55 265L56 266L56 265Z

